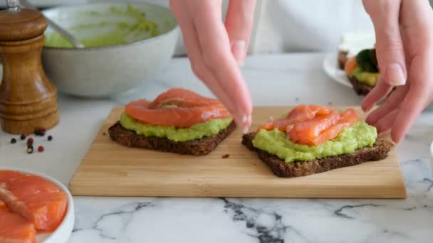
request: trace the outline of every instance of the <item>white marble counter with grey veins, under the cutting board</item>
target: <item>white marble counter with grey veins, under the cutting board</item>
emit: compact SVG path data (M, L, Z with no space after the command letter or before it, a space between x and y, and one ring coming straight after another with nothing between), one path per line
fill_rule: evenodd
M357 105L353 90L328 78L323 54L254 56L244 77L256 105ZM67 184L115 104L154 98L169 87L203 95L185 58L176 58L142 87L113 99L59 95L61 123L38 138L43 153L25 153L0 132L0 166L53 175ZM433 112L424 112L397 146L406 200L75 197L70 242L432 242Z

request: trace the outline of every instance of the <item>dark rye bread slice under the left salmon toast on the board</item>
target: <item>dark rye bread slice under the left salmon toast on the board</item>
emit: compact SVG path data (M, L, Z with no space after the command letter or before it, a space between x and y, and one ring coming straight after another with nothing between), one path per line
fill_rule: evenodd
M127 147L150 148L171 153L184 153L194 156L203 156L210 153L221 141L223 141L236 128L234 121L219 131L214 136L205 136L202 139L192 141L171 141L167 138L158 138L156 136L138 135L135 131L125 129L120 121L110 126L108 133L113 141Z

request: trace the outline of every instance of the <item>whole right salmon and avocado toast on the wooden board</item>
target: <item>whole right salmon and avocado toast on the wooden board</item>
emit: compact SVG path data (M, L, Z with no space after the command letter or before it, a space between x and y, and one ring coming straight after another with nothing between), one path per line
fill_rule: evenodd
M242 144L256 151L274 174L296 177L354 166L387 157L392 144L358 119L354 109L300 105L281 119L244 134Z

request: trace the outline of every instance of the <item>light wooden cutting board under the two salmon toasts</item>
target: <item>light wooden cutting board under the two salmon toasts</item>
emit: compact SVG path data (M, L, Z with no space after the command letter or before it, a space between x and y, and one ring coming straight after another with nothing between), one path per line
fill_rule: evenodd
M358 108L357 108L358 109ZM278 178L241 145L241 131L207 156L127 148L108 136L123 107L115 107L69 185L73 195L242 197L242 198L406 198L395 149L382 161L362 163L301 178ZM288 107L256 107L254 122L268 121ZM359 109L358 109L359 110ZM229 158L222 158L229 154Z

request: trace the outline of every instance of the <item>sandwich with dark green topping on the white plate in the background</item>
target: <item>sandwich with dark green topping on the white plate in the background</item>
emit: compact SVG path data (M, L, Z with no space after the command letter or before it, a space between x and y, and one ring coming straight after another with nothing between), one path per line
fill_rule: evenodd
M375 49L361 50L358 55L349 58L345 63L345 72L353 90L358 95L367 95L380 75Z

